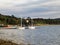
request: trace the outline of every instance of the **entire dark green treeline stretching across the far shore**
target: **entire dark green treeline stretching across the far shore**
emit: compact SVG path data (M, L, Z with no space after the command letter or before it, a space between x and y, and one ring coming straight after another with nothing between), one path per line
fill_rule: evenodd
M30 17L27 18L28 20L32 20ZM23 18L23 24L27 24L26 23L27 18L26 19ZM34 25L35 24L60 24L60 18L56 18L56 19L34 18L32 23ZM21 25L21 18L15 17L14 15L9 16L9 15L0 14L0 24Z

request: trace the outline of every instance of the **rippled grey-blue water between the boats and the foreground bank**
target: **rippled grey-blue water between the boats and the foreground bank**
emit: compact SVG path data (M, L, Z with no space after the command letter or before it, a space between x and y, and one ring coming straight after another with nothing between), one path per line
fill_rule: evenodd
M60 45L60 25L39 26L34 30L0 29L0 38L18 44Z

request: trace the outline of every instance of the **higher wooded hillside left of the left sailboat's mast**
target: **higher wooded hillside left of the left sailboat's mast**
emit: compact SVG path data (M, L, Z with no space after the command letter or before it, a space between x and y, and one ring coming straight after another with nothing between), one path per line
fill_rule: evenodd
M17 18L14 15L9 16L0 14L0 24L18 25L20 24L20 18Z

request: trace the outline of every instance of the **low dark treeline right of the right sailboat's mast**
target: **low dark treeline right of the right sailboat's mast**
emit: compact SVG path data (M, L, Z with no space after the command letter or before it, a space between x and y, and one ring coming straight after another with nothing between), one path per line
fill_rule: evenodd
M35 18L33 20L35 24L60 24L60 18L56 19Z

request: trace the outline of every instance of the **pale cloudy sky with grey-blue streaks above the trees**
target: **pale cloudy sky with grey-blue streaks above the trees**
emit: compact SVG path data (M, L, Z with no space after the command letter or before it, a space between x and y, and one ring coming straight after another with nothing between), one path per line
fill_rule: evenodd
M0 13L16 17L60 18L60 0L0 0Z

